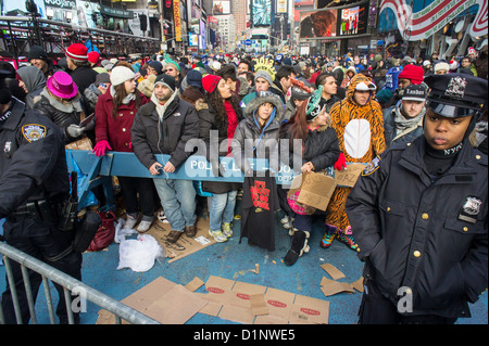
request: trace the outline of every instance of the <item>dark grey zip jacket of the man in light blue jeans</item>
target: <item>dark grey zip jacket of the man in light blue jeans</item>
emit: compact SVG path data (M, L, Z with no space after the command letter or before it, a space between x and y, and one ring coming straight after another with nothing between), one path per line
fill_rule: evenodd
M152 101L141 106L130 132L134 153L148 169L156 162L154 154L170 155L170 163L177 168L193 153L185 151L185 145L199 138L199 117L196 108L175 92L162 119Z

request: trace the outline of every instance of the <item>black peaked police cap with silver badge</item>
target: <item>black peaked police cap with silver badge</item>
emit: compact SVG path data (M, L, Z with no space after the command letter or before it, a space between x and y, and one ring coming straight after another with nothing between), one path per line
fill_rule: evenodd
M487 80L465 74L431 75L428 107L438 115L457 118L480 112L487 98Z

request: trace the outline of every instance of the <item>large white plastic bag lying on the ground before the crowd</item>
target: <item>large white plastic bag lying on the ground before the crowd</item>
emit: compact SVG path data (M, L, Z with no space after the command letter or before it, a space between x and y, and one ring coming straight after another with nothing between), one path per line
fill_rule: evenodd
M137 239L121 242L117 270L130 268L137 272L148 271L160 257L165 257L165 251L160 243L152 235L139 234Z

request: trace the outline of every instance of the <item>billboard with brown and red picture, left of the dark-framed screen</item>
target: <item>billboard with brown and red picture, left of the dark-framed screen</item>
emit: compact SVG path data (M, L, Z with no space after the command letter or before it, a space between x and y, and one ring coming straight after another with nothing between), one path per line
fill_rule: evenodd
M336 37L338 10L301 12L300 38Z

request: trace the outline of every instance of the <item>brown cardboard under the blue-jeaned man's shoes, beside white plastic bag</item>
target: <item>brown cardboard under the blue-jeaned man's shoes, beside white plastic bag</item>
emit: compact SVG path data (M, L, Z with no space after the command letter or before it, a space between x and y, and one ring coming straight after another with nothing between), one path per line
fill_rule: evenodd
M196 236L188 238L187 235L181 234L181 236L173 244L166 241L166 236L170 234L171 230L170 223L154 221L147 232L147 234L154 236L161 246L164 247L166 257L171 258L168 264L216 243L215 240L209 235L209 218L197 219Z

